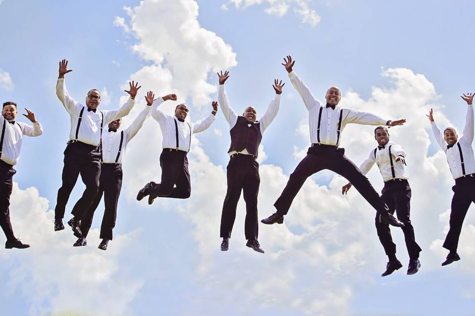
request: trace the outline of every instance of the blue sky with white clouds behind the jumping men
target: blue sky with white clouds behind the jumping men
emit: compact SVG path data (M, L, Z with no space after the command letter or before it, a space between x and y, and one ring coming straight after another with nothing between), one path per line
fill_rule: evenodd
M471 206L459 243L462 260L441 267L448 231L451 177L426 114L440 128L462 131L464 92L474 92L473 1L348 0L0 0L0 97L29 108L43 124L40 137L23 140L13 177L10 214L26 250L0 249L2 315L473 315L475 214ZM229 70L233 109L260 117L286 84L280 111L259 151L259 219L272 205L309 146L308 113L292 87L283 57L313 94L342 91L341 105L386 119L407 153L411 219L422 267L407 276L401 230L392 229L404 267L380 277L387 257L374 227L375 212L346 180L329 171L310 177L283 225L259 226L265 254L245 246L243 199L230 239L220 251L219 224L226 195L229 125L218 112L195 134L190 160L191 197L136 200L142 186L160 179L162 135L152 118L123 158L124 179L114 239L97 249L103 204L95 212L88 246L72 247L66 229L53 232L70 119L55 94L58 62L73 72L66 86L84 102L102 93L100 108L127 100L139 81L127 127L145 106L147 90L178 94L194 122L217 100L216 72ZM173 113L177 102L163 110ZM19 117L27 122L26 118ZM359 165L377 146L373 127L348 125L346 155ZM368 174L383 182L376 167ZM69 219L84 185L78 181L66 208ZM1 239L0 239L1 242Z

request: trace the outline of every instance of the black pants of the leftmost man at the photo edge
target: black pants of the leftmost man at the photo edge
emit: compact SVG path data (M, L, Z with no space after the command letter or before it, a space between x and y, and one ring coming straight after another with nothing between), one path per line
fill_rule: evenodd
M15 239L10 223L10 195L15 173L12 165L0 160L0 226L6 240Z

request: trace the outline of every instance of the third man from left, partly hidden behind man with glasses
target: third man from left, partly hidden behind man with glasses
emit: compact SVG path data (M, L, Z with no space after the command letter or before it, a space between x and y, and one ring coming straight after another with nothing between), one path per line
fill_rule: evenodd
M132 124L118 132L121 125L121 118L109 123L109 128L102 133L102 159L100 167L99 190L93 204L84 214L81 220L82 236L74 243L74 246L87 245L86 237L93 223L93 216L97 205L99 205L102 195L104 195L104 215L100 225L101 242L98 246L101 250L106 250L109 240L112 240L112 230L115 227L117 217L117 202L119 200L120 189L122 188L122 157L125 154L127 145L142 127L143 122L150 113L154 94L148 91L145 100L147 106L132 122Z

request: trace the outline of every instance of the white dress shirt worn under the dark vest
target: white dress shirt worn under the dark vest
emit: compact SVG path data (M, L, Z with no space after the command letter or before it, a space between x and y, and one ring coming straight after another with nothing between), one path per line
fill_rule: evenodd
M229 123L229 130L231 130L238 121L238 115L229 105L229 100L228 96L226 95L226 90L224 89L224 84L219 85L218 101L221 105L221 110L223 111L224 118L226 118ZM261 131L261 135L264 134L266 128L269 127L271 122L276 117L277 112L279 112L280 102L281 95L276 93L274 100L272 100L269 106L267 107L266 113L264 113L264 115L259 119L259 129ZM235 153L236 151L232 151L229 153L229 155L231 156ZM243 151L239 152L239 154L250 155L246 148L244 148Z

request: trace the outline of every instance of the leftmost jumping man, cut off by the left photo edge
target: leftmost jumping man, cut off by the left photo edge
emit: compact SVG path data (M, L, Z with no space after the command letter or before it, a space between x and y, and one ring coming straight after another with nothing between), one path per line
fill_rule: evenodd
M33 126L15 121L18 111L15 102L5 102L2 105L0 118L0 226L5 233L5 248L28 248L30 245L22 243L13 234L10 223L10 195L13 186L13 175L16 170L13 166L18 162L23 135L39 136L43 127L36 120L35 114L25 109Z

